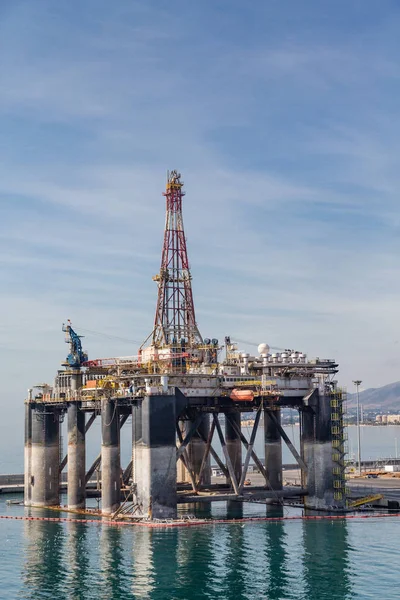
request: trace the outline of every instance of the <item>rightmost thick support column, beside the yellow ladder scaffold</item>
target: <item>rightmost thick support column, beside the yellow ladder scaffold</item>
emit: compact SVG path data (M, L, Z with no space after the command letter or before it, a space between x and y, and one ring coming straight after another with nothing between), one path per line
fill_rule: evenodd
M308 508L326 510L334 500L330 397L315 390L301 411L301 445L307 465Z

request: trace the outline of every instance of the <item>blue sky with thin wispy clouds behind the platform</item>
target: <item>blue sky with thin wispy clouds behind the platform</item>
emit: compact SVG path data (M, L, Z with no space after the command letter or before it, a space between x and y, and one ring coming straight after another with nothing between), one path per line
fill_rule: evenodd
M172 168L204 336L400 379L399 28L389 0L4 0L0 402L51 381L68 318L150 333Z

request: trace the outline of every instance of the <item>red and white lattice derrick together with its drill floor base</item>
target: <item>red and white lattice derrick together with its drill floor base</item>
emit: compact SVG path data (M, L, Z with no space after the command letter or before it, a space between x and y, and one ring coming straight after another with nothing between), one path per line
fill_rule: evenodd
M142 363L154 363L156 372L186 372L217 361L218 340L202 338L196 323L192 276L182 218L183 182L178 171L168 172L166 221L154 328L142 344ZM151 340L150 346L145 346Z

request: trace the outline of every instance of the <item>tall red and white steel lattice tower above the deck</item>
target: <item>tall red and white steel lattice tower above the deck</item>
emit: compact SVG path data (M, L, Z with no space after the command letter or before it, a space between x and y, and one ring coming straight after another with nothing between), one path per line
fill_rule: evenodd
M166 222L158 298L153 330L153 345L161 347L182 343L189 347L202 344L194 313L192 277L186 249L182 219L183 182L177 171L168 173L164 196Z

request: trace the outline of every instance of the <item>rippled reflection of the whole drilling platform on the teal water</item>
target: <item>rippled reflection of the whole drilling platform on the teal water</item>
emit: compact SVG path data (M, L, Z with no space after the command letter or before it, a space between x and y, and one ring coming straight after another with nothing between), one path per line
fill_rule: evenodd
M351 597L345 521L167 530L28 521L24 527L22 597L29 600Z

